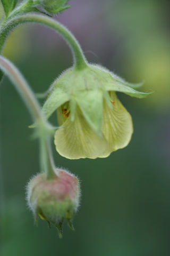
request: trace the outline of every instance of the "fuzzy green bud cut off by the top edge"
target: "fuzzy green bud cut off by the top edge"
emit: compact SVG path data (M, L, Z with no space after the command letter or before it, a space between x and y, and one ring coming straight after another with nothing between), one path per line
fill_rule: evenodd
M40 4L45 11L55 14L69 8L70 5L64 6L68 0L40 0Z

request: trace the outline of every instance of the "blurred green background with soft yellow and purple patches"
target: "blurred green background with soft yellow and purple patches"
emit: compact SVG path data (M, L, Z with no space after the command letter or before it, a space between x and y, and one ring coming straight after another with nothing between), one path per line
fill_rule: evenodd
M56 19L78 38L90 62L129 82L145 81L147 99L118 94L133 118L128 147L104 159L55 162L81 180L75 232L63 239L45 221L33 224L25 185L39 172L32 120L15 89L4 79L1 102L2 256L160 256L170 254L170 23L166 0L70 0ZM1 9L2 10L2 9ZM2 14L2 12L1 12ZM4 55L20 68L33 91L44 92L72 65L60 36L24 25L9 37ZM43 103L43 102L41 102ZM57 125L56 116L51 119ZM2 187L3 186L3 187ZM2 199L4 198L4 199Z

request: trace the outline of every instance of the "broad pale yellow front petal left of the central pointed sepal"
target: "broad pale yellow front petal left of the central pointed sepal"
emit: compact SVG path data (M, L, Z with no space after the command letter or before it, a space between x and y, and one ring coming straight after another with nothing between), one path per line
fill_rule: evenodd
M91 129L78 109L74 121L69 116L54 138L58 153L69 159L97 158L108 144L104 137L99 137Z

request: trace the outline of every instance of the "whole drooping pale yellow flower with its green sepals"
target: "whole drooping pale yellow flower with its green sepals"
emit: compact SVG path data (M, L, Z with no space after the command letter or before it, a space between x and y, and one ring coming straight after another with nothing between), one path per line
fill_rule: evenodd
M66 70L53 84L43 113L56 109L61 126L55 132L59 154L70 159L107 157L131 140L131 115L116 92L143 98L151 93L136 91L130 84L99 66Z

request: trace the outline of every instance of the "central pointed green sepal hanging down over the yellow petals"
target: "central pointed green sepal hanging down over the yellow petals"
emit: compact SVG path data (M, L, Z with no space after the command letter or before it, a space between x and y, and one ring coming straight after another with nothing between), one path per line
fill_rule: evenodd
M98 135L102 135L103 92L101 90L84 90L74 99L91 128Z

